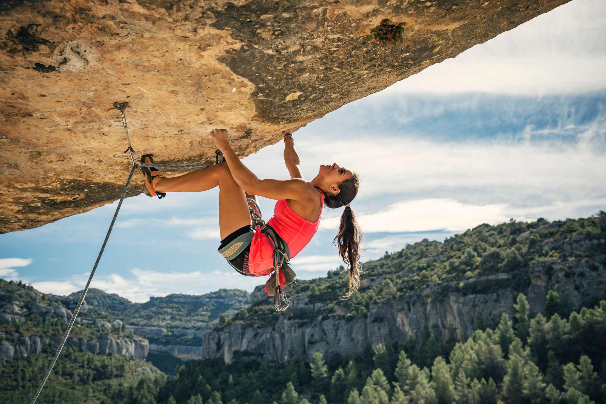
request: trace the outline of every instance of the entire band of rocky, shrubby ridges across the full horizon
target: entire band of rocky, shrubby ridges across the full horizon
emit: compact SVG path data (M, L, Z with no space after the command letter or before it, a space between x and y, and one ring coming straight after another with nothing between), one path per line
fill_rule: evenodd
M364 263L365 279L349 300L339 299L346 283L338 270L302 280L287 290L291 305L281 314L262 286L252 294L220 290L143 304L91 290L67 346L140 359L154 353L282 362L289 348L310 360L316 349L330 357L360 354L367 343L419 339L425 323L437 337L451 323L462 337L472 333L478 310L488 325L502 313L513 318L518 293L535 313L544 310L549 290L573 309L606 298L605 240L606 213L481 225L444 243L423 240ZM0 360L58 342L78 296L45 295L0 280ZM227 322L219 323L221 314Z

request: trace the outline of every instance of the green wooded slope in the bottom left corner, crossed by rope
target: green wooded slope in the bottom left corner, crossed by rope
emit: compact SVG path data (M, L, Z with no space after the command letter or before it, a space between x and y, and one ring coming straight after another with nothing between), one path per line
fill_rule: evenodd
M3 404L31 402L50 365L52 352L49 349L37 356L0 365L0 401ZM165 381L166 376L148 362L64 348L38 402L148 404L153 403L153 397Z

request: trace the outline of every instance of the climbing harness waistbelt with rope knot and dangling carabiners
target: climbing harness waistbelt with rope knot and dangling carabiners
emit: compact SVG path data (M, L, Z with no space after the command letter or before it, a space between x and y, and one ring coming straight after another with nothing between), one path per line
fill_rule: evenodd
M248 210L250 211L250 219L253 222L253 228L261 228L261 233L267 236L271 247L273 247L273 274L271 274L271 276L275 277L276 282L276 287L273 291L273 306L276 311L284 311L290 305L290 300L288 300L286 293L280 286L280 271L282 271L285 282L290 282L291 288L294 288L296 284L294 279L295 272L290 268L290 265L288 265L288 261L290 261L288 244L282 239L282 237L278 235L278 233L276 233L273 227L268 225L265 220L263 220L261 208L259 208L256 200L247 199L246 201L249 203ZM250 204L253 204L256 210L253 209Z

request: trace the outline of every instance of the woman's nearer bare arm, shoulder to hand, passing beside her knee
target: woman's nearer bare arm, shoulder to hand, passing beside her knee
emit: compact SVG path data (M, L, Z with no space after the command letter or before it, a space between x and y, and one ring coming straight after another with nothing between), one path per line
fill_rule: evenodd
M210 136L223 153L231 176L247 194L276 200L313 200L319 197L318 191L309 182L301 178L289 180L259 179L255 173L242 164L238 155L233 151L227 139L226 130L215 129L210 133Z

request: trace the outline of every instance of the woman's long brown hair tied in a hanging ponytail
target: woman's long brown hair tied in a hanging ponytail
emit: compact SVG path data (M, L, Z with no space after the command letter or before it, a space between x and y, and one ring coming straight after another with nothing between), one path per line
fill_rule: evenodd
M339 184L339 193L324 192L324 204L331 209L349 205L358 194L359 178L353 173L350 179ZM339 249L339 256L349 269L349 291L344 294L344 299L350 297L360 286L360 247L362 244L362 231L356 222L353 210L346 206L341 214L339 233L333 240Z

